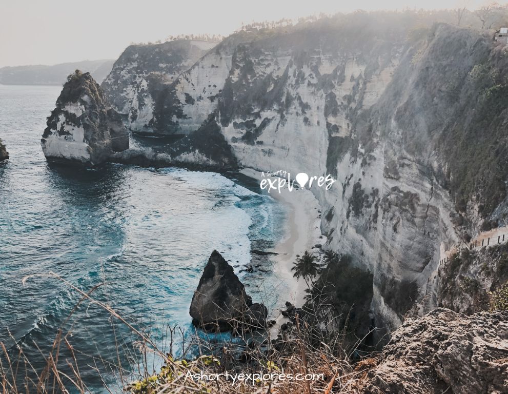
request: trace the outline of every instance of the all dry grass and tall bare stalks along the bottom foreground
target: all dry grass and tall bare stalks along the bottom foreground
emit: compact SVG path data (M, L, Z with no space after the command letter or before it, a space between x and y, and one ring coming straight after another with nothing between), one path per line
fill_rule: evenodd
M90 373L95 374L94 380L102 383L103 392L110 393L355 393L358 392L356 387L364 377L365 369L373 363L370 359L356 366L351 365L349 355L358 344L346 346L346 328L332 334L323 334L316 331L315 325L311 326L308 319L300 319L298 314L291 329L283 331L277 339L272 340L269 334L256 337L249 333L238 333L243 337L240 341L231 340L217 345L196 335L192 343L186 345L183 342L179 345L184 356L173 359L170 354L173 353L178 336L184 337L183 331L169 327L166 346L169 352L160 350L147 334L135 328L111 306L92 297L93 292L102 284L86 293L53 272L48 275L62 281L80 295L65 323L83 303L103 308L112 319L127 327L137 338L139 353L131 358L138 360L137 365L123 365L125 362L120 361L121 347L125 346L120 338L115 338L115 363L97 356L93 362L79 363L71 343L71 331L58 329L50 350L45 353L39 349L40 357L45 361L43 368L34 367L21 346L16 344L14 350L11 348L8 351L4 343L1 343L3 357L0 357L0 392L3 394L96 392L96 388L87 387L82 378L84 372L88 376ZM24 281L27 279L29 278ZM335 319L328 313L321 314L324 319ZM324 323L333 326L331 321ZM11 339L15 342L12 336ZM192 346L199 348L200 356L186 360L187 350ZM162 366L154 368L157 365L154 360L163 361ZM117 378L115 384L107 382L105 369L99 368L99 364L107 367L108 376L114 375ZM224 375L226 372L229 377ZM193 375L221 373L223 375L213 381L192 378ZM233 381L232 376L240 373L247 376L262 373L265 378L270 373L272 379L240 381L241 378L237 376L236 381ZM281 373L285 374L286 380L278 379ZM317 377L314 380L296 380L298 374L315 374ZM292 375L293 380L287 380L288 375Z

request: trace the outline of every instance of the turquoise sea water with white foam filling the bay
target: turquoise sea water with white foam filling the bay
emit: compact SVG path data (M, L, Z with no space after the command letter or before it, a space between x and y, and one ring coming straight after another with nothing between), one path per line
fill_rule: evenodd
M168 325L192 333L189 305L213 249L235 266L254 301L279 303L269 259L242 271L251 249L282 236L285 213L274 200L237 174L49 165L39 141L59 91L0 85L0 137L11 156L0 164L0 341L11 354L21 346L40 367L37 347L47 351L62 328L79 363L97 366L106 380L114 379L109 363L117 358L138 362L138 338L93 303L84 301L65 323L81 295L50 271L83 291L102 283L92 297L157 344L166 343ZM99 391L97 373L81 372Z

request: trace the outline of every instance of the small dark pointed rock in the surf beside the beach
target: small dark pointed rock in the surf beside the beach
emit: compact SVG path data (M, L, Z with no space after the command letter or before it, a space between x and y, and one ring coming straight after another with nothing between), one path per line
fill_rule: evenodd
M266 306L252 303L233 267L216 250L205 266L189 312L192 324L213 331L263 328L268 316Z

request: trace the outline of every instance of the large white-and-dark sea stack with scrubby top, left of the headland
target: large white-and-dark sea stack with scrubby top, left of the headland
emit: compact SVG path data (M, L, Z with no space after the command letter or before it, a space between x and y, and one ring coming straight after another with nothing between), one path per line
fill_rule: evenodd
M96 166L129 148L121 116L89 72L67 77L47 125L40 144L48 160Z

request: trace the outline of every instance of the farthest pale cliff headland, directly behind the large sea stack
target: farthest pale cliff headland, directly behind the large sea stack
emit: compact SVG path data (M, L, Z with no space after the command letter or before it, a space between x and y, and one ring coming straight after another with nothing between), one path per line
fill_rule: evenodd
M128 115L132 131L167 134L173 116L163 102L174 94L172 83L215 45L195 40L131 45L101 86L113 107Z

